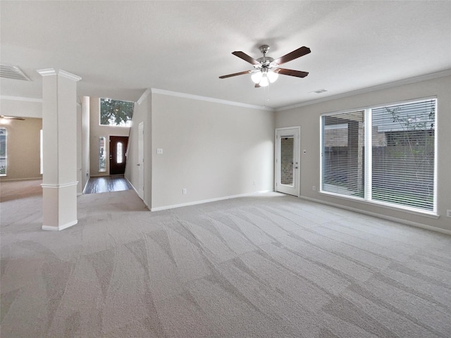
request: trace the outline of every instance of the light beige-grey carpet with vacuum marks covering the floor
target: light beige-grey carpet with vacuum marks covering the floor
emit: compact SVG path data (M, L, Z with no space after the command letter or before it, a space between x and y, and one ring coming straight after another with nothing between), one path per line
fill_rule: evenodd
M449 236L275 193L150 213L131 190L44 232L25 186L1 183L1 338L451 336Z

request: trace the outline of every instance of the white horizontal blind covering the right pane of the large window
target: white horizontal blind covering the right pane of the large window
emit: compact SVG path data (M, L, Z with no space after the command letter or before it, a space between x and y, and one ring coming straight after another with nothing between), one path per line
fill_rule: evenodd
M435 99L372 110L372 199L433 210Z

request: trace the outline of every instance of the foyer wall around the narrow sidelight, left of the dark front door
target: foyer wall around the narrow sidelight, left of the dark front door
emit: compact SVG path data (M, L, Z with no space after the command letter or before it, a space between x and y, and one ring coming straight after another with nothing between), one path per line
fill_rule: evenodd
M128 136L130 127L111 127L100 125L100 99L91 97L89 99L89 173L90 176L109 175L109 138L110 136ZM99 172L99 137L106 137L106 172Z

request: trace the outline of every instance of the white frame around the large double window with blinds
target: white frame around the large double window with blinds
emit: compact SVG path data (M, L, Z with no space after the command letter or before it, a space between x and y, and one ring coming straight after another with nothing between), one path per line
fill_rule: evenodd
M404 206L402 204L395 204L390 203L387 201L379 201L372 198L372 110L378 109L378 108L390 108L393 106L400 106L403 104L414 104L414 103L420 103L424 101L435 101L435 116L434 116L434 158L433 158L433 208L432 210L427 210L423 208L415 208L411 206ZM326 116L333 116L333 115L340 115L345 113L354 113L357 111L365 111L365 123L364 123L364 197L359 196L347 196L345 194L339 194L337 192L328 192L326 190L323 190L323 165L324 165L324 156L323 156L323 150L324 150L324 129L323 129L323 118ZM437 214L437 163L438 163L438 99L437 96L426 96L418 99L410 99L410 100L404 100L404 101L396 101L396 102L390 102L388 104L378 104L373 106L366 106L362 108L353 108L353 109L347 109L343 111L335 111L330 113L323 113L319 117L319 134L320 134L320 168L319 168L319 176L320 176L320 182L319 182L319 194L326 194L331 195L334 197L337 197L339 199L345 199L345 200L353 200L353 201L359 201L360 203L369 204L369 205L377 205L377 206L383 206L385 208L390 208L397 211L404 211L407 213L414 213L414 214L421 214L426 216L431 216L433 218L438 218Z

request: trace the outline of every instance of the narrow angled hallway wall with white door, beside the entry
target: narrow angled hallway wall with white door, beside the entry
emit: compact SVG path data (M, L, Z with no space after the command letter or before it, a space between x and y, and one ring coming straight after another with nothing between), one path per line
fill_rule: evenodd
M128 139L128 158L125 177L138 191L138 125L144 123L144 203L152 204L152 139L151 139L152 96L146 92L142 101L138 101L133 109L133 123Z

